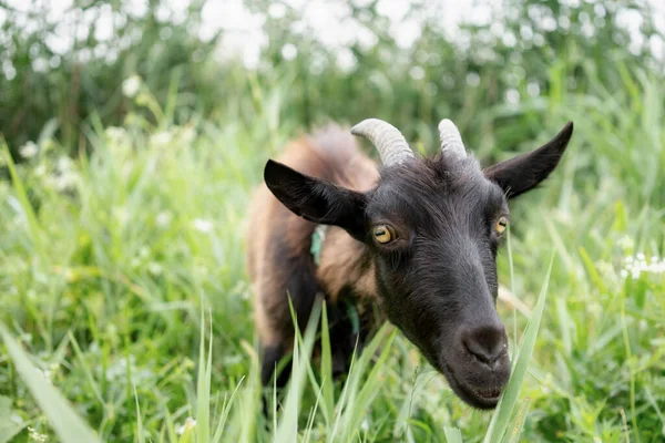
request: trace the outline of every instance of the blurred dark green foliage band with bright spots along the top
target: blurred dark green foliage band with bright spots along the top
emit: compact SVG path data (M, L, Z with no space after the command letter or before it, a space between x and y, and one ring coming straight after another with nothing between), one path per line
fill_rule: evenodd
M50 1L28 8L0 1L0 133L14 155L44 127L75 152L88 146L92 119L120 125L132 110L122 89L132 75L160 103L176 89L175 123L231 115L252 124L262 105L253 84L274 85L287 103L282 124L374 115L430 146L436 122L452 115L471 146L489 150L534 135L551 112L542 96L592 85L612 91L634 66L663 72L663 60L653 56L654 48L662 55L663 29L646 2L474 2L475 19L454 33L447 32L443 3L331 2L338 31L348 37L326 44L298 2L250 0L246 7L265 32L250 63L224 44L233 30L206 32L208 2L177 11L172 3L76 0L54 13ZM391 18L418 23L407 28L411 41ZM637 38L628 22L637 24Z

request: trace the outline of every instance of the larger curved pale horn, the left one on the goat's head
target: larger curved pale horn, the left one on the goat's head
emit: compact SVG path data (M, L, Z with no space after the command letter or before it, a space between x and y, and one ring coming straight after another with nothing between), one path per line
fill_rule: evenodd
M385 166L397 165L415 157L401 132L382 120L364 120L351 127L351 134L369 140L379 151L381 163Z

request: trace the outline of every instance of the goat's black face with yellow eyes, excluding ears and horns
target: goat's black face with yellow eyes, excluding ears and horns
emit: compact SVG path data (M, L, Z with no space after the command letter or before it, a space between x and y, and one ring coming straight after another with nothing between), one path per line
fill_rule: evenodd
M379 297L460 398L492 408L510 374L494 303L508 202L471 158L416 162L385 169L368 195Z

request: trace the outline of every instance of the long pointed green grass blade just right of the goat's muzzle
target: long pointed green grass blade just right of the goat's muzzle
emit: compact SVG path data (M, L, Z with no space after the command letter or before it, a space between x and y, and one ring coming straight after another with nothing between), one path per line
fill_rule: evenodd
M553 262L554 256L552 256L550 259L550 266L548 268L545 281L538 297L535 308L531 315L531 320L529 321L526 330L524 331L524 336L522 337L522 343L515 357L512 375L503 391L503 394L501 395L501 400L499 401L499 405L494 411L490 426L483 440L485 443L502 441L503 435L508 430L510 416L518 400L522 381L526 374L529 361L531 360L531 354L533 353L533 348L535 347L535 339L538 337L538 331L540 329L541 319L545 308L545 298L548 295L548 287L550 285L550 276L552 274Z

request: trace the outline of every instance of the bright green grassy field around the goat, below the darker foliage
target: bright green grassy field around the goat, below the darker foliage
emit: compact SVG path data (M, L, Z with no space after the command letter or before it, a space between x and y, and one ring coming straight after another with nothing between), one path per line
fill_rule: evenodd
M665 96L647 75L624 81L589 95L553 87L535 140L492 146L489 133L471 147L503 158L575 123L553 177L513 203L511 255L499 258L514 357L554 257L505 441L521 426L514 441L665 439ZM263 165L299 131L278 91L257 91L252 125L175 126L170 103L142 94L156 124L93 122L90 155L63 156L49 126L16 167L2 146L1 442L81 441L50 385L109 442L454 442L453 427L484 439L492 414L388 330L346 385L308 364L307 336L282 412L262 416L243 245Z

